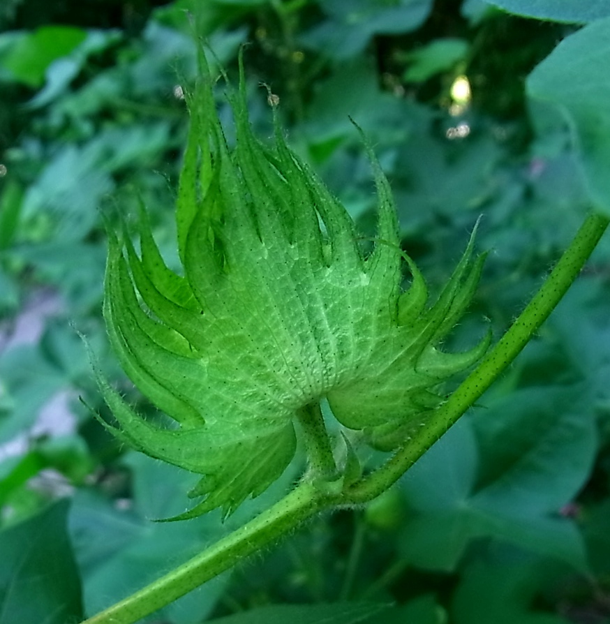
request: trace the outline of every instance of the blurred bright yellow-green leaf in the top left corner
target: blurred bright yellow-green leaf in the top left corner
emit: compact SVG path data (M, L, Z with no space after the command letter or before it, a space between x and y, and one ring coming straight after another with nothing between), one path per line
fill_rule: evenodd
M15 80L29 87L40 87L47 68L56 59L70 54L80 45L87 32L68 26L44 26L24 34L3 58L2 65Z

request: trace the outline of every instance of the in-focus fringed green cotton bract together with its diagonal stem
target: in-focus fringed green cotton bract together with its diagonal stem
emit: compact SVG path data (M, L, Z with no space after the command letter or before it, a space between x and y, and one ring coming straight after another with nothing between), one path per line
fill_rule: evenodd
M475 254L474 234L431 301L401 249L392 192L364 135L378 202L370 251L345 207L288 146L276 98L273 140L253 133L245 84L241 67L239 87L227 87L232 147L204 58L187 96L191 128L176 206L181 271L163 259L145 209L139 245L109 228L110 342L168 419L143 417L98 372L114 415L100 420L126 445L201 475L188 493L193 504L173 520L218 507L234 512L280 477L299 445L306 466L295 488L258 517L91 624L135 622L314 514L386 491L512 362L607 223L588 218L493 349L488 332L466 352L450 352L443 343L473 299L485 258ZM456 376L466 379L446 394ZM363 466L364 447L385 459Z

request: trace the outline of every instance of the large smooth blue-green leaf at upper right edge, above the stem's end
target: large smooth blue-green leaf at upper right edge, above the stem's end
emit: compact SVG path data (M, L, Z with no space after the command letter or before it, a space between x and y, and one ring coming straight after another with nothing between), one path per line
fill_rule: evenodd
M527 80L530 98L563 114L590 200L604 214L610 214L609 33L610 18L606 18L568 36Z

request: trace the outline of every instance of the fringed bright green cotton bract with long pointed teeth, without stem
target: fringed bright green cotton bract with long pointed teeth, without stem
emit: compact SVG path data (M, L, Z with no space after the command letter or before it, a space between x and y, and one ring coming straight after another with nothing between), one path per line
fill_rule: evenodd
M110 235L107 262L112 346L176 426L137 415L102 381L119 428L106 426L138 450L204 475L191 492L204 498L183 517L232 512L265 490L295 454L297 416L324 398L374 447L408 443L442 401L440 382L489 343L461 354L436 348L477 285L484 258L471 262L472 240L427 306L374 156L378 238L366 255L345 208L287 147L278 124L272 146L255 138L243 76L229 98L234 149L207 72L189 98L176 217L184 275L166 267L145 214L140 254L128 237L121 244ZM412 276L406 292L403 260Z

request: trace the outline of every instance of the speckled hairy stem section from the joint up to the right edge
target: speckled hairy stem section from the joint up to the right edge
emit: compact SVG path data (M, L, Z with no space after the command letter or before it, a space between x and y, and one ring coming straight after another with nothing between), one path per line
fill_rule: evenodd
M540 325L555 309L578 277L589 256L604 234L609 219L589 214L576 236L546 278L542 287L509 327L496 346L455 392L426 420L417 434L378 470L354 484L344 493L344 503L366 503L385 492L415 463L512 364L532 339Z

